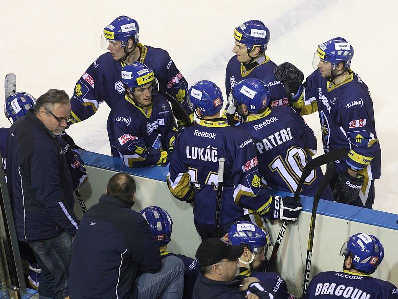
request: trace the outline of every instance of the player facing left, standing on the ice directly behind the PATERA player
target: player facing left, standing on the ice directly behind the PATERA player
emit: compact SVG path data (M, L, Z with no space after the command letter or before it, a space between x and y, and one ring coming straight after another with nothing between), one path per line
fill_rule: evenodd
M285 88L281 81L274 75L277 66L265 55L270 31L263 22L250 20L235 28L233 33L235 45L232 52L235 53L229 59L225 73L225 89L227 95L231 92L236 82L247 78L257 78L264 81L271 89L270 107L289 105ZM227 104L226 109L231 103ZM225 112L224 112L225 116ZM237 122L241 117L235 113Z

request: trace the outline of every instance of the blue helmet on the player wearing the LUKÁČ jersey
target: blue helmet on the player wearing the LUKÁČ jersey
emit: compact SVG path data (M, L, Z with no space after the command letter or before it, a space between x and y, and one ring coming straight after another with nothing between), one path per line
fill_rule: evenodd
M199 107L204 116L216 114L224 102L220 88L208 80L194 83L188 90L187 99L191 109Z

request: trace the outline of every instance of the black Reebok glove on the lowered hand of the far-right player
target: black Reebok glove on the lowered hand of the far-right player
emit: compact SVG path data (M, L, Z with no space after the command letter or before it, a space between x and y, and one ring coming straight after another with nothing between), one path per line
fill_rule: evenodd
M334 200L341 203L351 204L358 197L359 191L364 184L364 176L357 175L353 177L344 172L339 175L336 184L333 187Z

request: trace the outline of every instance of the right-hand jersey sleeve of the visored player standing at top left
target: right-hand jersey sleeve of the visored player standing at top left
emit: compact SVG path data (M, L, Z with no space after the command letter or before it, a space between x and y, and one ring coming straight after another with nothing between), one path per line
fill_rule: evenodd
M167 65L164 65L163 70L160 70L163 72L163 76L158 76L157 79L159 80L160 85L165 87L166 92L177 99L182 109L188 114L190 121L193 122L194 112L188 106L187 102L188 82L178 70L176 64L168 53L165 57L165 61L167 62ZM176 108L174 108L173 113L177 118L177 123L179 126L187 125L183 121L181 113L179 113Z

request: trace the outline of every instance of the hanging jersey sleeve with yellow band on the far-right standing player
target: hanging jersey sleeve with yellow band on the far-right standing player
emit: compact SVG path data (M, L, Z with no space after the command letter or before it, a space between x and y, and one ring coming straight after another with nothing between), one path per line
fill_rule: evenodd
M356 99L353 98L353 100ZM372 100L369 95L362 96L361 100L363 105L342 106L340 111L341 129L346 132L351 148L346 163L356 170L367 167L380 151Z

